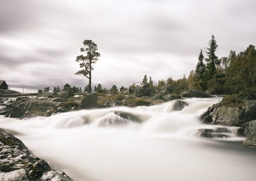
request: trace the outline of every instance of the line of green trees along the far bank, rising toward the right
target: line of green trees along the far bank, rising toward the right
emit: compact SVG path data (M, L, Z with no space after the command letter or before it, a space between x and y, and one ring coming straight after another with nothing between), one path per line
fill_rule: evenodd
M227 57L218 58L216 49L218 48L214 35L208 43L206 57L202 50L198 55L198 63L195 70L191 70L188 78L184 75L178 80L172 77L167 80L153 81L151 76L148 80L147 75L143 77L140 84L133 83L129 87L116 87L113 85L111 89L103 88L99 83L95 85L93 91L101 94L125 92L133 94L136 89L147 85L150 89L160 91L164 85L173 85L175 91L180 93L187 89L198 91L206 91L210 94L234 94L239 92L250 91L255 88L256 83L256 50L255 46L249 45L244 52L236 54L230 50ZM91 92L89 85L83 90L81 87L71 86L66 83L63 89L59 86L53 88L53 92L72 89L75 93ZM49 87L45 87L45 92L49 92Z

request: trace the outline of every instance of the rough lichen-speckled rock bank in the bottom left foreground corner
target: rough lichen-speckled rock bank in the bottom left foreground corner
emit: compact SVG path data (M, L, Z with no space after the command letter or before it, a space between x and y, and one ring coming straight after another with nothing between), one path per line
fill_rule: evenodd
M0 180L72 180L34 156L12 134L0 129Z

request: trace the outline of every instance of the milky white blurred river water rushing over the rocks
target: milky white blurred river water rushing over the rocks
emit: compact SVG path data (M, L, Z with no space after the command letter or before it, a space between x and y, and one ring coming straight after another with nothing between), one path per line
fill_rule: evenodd
M255 180L256 152L228 127L227 138L198 138L199 121L220 98L185 99L137 108L60 113L29 120L0 118L36 156L74 180Z

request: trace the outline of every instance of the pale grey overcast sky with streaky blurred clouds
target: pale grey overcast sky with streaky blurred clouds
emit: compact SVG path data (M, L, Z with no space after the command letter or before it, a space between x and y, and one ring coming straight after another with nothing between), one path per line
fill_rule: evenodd
M255 0L0 0L0 80L27 92L84 87L88 80L74 75L83 40L101 55L93 85L188 76L212 34L218 57L256 44L255 7Z

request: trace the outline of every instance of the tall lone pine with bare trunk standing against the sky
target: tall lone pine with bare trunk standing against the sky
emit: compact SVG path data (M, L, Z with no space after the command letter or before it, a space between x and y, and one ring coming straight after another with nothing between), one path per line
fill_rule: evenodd
M96 43L92 40L84 40L84 47L81 48L81 52L85 52L85 55L79 55L76 57L76 61L80 62L81 70L77 71L76 75L83 75L89 79L88 92L92 92L92 65L95 64L100 57Z

